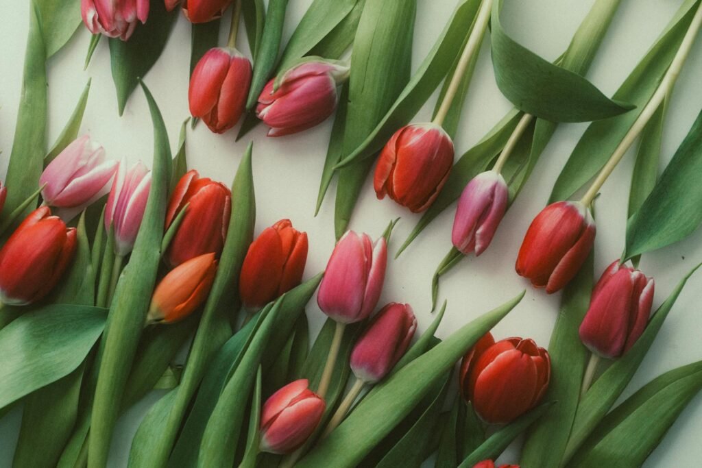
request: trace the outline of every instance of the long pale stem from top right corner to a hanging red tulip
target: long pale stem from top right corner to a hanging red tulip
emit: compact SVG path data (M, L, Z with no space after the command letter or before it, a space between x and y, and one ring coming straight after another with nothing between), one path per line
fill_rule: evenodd
M651 96L651 99L649 102L647 102L646 107L644 107L644 109L641 111L641 114L638 116L634 124L631 126L631 128L629 128L629 131L626 133L626 135L624 135L623 140L621 140L616 149L614 149L614 153L612 153L612 155L609 157L609 161L607 161L602 168L602 171L600 171L597 178L595 178L595 180L592 182L588 192L586 192L581 199L581 203L583 203L585 206L590 206L592 200L594 200L595 196L597 196L597 192L600 192L600 188L602 188L604 182L607 180L607 178L609 178L609 175L612 173L612 171L614 171L614 168L616 168L619 161L621 161L624 154L631 147L634 140L636 140L637 136L641 133L649 120L651 120L651 117L656 113L658 107L661 106L665 100L665 96L673 90L675 81L677 80L677 77L680 76L682 65L684 65L684 62L690 53L690 49L694 44L695 37L701 25L702 4L697 7L697 11L690 22L690 26L687 28L687 32L682 38L680 47L675 53L673 62L670 62L670 67L668 67L668 71L665 72L665 75L663 75L663 79L658 85L658 88L656 88L656 91Z

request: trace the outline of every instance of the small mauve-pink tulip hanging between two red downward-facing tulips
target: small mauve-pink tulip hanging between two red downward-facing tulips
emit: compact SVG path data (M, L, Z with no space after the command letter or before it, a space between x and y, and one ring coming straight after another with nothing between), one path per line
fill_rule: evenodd
M458 199L453 219L453 246L477 257L490 245L507 210L509 189L501 174L486 171L472 178Z

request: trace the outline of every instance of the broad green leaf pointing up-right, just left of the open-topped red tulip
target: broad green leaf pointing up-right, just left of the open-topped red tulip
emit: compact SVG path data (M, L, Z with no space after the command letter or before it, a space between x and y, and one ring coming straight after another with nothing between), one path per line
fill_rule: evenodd
M367 396L329 436L297 465L354 467L425 396L475 342L522 300L524 292L457 330L433 349L404 366ZM368 424L373 421L373 424Z

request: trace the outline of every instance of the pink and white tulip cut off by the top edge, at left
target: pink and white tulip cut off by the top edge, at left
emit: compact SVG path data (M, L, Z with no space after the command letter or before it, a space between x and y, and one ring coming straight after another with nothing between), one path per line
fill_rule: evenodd
M83 22L93 34L105 34L126 41L137 21L149 16L149 0L81 0Z

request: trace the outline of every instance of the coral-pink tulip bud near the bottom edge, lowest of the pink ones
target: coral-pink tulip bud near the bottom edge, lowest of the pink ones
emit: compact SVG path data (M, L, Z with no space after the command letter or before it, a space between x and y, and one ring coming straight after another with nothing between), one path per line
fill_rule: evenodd
M305 443L324 415L324 400L308 389L307 379L272 394L261 411L260 450L291 453Z

